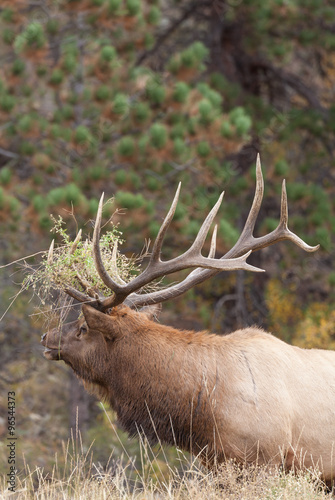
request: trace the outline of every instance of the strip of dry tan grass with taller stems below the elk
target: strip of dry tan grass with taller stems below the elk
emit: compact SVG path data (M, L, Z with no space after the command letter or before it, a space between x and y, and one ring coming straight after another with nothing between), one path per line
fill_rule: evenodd
M72 443L72 447L77 443ZM148 457L147 450L142 450ZM65 464L58 465L57 456L51 473L25 464L17 477L15 493L6 491L6 478L0 483L3 499L15 500L321 500L330 499L316 471L284 474L278 468L224 464L218 474L204 471L197 462L186 461L180 454L180 466L168 466L161 474L161 465L152 455L142 472L133 464L110 460L103 470L92 460L91 450L84 453L64 449ZM144 465L144 464L143 464ZM145 472L143 472L146 470Z

